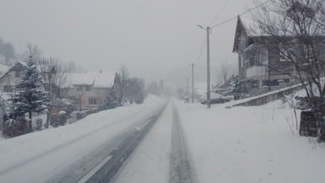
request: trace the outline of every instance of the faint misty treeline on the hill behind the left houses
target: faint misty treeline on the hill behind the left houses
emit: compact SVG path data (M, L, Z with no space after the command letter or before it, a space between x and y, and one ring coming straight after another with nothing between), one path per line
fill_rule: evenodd
M33 61L38 64L40 60L49 59L46 58L43 51L33 44L26 44L26 49L22 53L17 53L15 46L11 42L6 42L0 37L0 63L7 66L12 66L16 62L28 62L29 53L33 51ZM51 58L53 59L53 58ZM56 59L58 60L58 59ZM63 62L67 72L85 72L85 68L73 61Z

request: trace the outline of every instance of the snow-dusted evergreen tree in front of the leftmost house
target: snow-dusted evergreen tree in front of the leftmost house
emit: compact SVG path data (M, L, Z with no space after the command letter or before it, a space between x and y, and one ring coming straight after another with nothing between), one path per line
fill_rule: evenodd
M16 87L16 103L13 110L15 114L23 115L28 113L28 128L32 129L32 114L42 112L47 109L47 92L44 91L42 76L36 68L34 62L30 59L27 62L26 70L22 76L22 81Z

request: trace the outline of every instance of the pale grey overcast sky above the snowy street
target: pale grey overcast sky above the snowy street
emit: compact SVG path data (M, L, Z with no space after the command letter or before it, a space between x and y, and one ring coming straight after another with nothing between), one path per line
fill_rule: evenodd
M0 37L23 52L28 42L47 56L74 61L88 71L117 71L126 64L133 76L184 80L195 62L196 82L206 78L208 26L244 12L253 0L0 0ZM232 53L236 21L213 28L211 74Z

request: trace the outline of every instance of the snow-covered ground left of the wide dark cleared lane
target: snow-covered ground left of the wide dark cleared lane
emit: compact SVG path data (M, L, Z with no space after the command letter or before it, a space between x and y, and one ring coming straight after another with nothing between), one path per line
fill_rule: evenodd
M143 105L118 107L71 125L0 141L0 182L45 182L164 104L149 96Z

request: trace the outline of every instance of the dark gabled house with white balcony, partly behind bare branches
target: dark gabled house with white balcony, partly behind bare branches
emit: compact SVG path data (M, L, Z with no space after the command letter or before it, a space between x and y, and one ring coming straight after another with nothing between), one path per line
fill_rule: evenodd
M266 46L263 37L251 31L250 19L238 16L235 30L233 53L238 53L238 78L242 98L258 96L270 91L297 84L295 67L292 62L283 59L281 51ZM324 37L323 37L324 38ZM283 39L294 40L294 37ZM323 43L322 43L323 42ZM325 39L319 44L319 50L325 57ZM303 55L303 54L301 54ZM325 59L325 58L323 58ZM277 69L270 69L276 66Z

